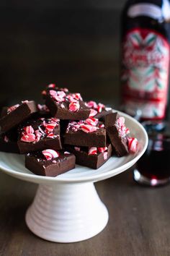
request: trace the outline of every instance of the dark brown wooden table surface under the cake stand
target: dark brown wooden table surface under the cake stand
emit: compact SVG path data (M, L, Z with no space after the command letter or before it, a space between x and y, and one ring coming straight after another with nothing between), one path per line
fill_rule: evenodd
M32 234L24 221L37 185L0 171L0 255L170 255L169 185L141 187L128 170L96 187L109 210L106 228L84 242L54 243Z

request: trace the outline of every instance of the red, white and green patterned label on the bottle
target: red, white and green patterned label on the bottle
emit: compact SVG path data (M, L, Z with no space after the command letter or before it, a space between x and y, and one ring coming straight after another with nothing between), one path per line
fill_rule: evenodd
M169 85L169 43L153 30L135 28L122 51L122 96L127 112L139 108L145 119L163 119Z

